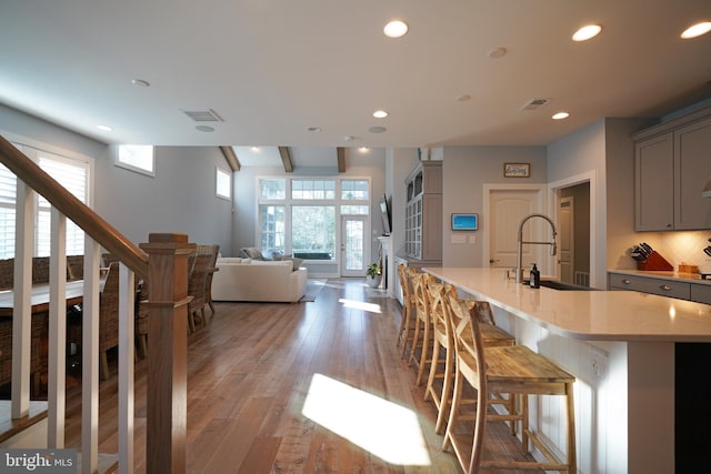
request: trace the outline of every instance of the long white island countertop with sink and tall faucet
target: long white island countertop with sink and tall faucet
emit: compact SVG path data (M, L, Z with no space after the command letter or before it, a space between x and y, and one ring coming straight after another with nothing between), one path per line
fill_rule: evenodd
M505 279L504 269L425 268L553 333L588 341L711 342L711 305L635 291L559 291Z

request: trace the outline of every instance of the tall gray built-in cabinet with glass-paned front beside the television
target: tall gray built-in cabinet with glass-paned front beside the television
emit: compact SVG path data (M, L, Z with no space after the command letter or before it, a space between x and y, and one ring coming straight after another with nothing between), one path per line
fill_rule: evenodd
M410 259L441 262L442 162L421 162L405 186L404 253Z

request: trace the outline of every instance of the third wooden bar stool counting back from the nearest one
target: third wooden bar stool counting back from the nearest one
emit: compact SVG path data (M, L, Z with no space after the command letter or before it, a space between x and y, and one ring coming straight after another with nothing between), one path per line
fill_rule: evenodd
M431 362L428 359L432 350L432 320L430 317L430 293L428 284L433 283L434 278L429 273L418 272L410 278L412 284L412 297L414 300L414 334L412 336L412 349L410 350L410 365L417 365L418 375L415 384L422 383L424 366ZM418 354L418 351L419 354Z

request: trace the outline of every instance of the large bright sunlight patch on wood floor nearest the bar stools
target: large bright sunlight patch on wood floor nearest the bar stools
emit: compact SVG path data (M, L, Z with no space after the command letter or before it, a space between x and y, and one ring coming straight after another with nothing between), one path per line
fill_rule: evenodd
M415 413L322 374L313 374L301 413L383 461L431 465Z

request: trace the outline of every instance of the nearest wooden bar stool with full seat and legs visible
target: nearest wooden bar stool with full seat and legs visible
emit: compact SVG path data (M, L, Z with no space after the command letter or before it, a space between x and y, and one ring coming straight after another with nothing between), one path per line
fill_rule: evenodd
M451 324L454 330L457 375L454 394L450 411L443 447L450 444L457 458L467 473L478 473L480 468L498 470L542 470L560 471L574 474L575 428L573 409L573 383L575 377L558 365L522 345L485 347L478 317L471 315L467 306L451 293L447 295ZM477 414L474 421L471 452L455 425L459 421L460 399L463 384L468 382L477 390ZM507 414L488 413L490 393L518 393L521 395L519 411ZM565 462L559 461L529 428L528 395L560 395L565 397ZM529 453L529 440L545 457L545 462L537 462L529 455L528 460L484 460L483 441L487 422L491 420L520 420L523 453Z

